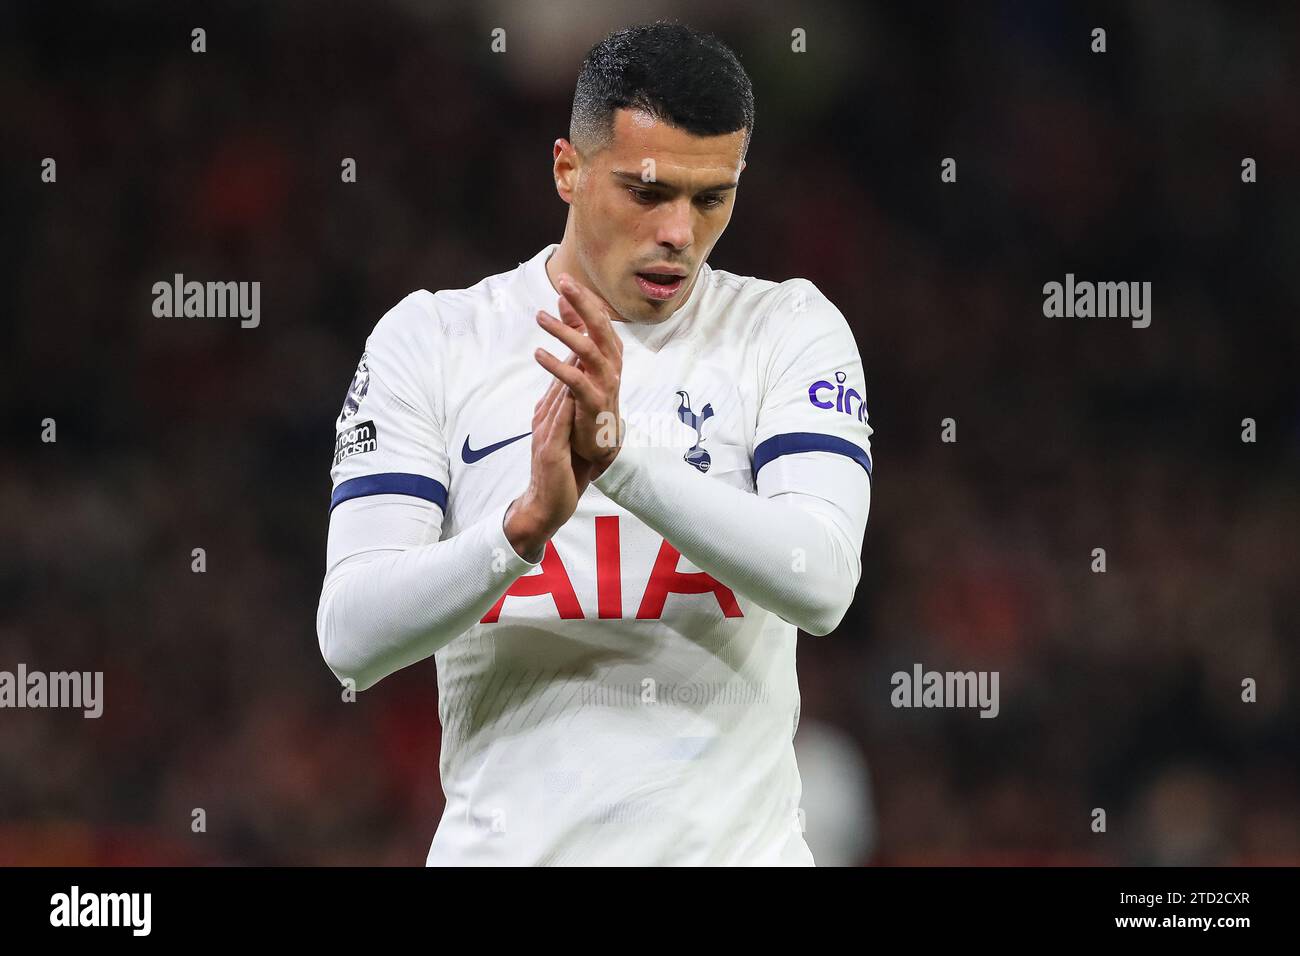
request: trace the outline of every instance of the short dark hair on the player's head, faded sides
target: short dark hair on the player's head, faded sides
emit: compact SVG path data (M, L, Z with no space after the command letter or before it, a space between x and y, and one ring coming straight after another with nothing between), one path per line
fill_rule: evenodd
M754 135L754 87L736 53L712 34L671 21L616 30L592 47L577 77L569 139L580 151L603 148L621 108L697 137L744 129L741 155Z

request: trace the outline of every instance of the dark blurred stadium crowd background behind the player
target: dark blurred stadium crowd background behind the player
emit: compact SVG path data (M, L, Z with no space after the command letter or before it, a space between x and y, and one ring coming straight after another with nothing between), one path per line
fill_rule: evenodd
M800 643L818 860L1300 862L1300 10L900 7L5 4L0 669L105 711L0 710L0 862L424 862L434 665L343 702L317 649L333 421L403 295L559 241L581 57L659 17L754 81L710 261L812 280L867 371L862 584ZM155 317L178 272L260 326ZM1150 328L1045 319L1066 272ZM893 709L916 662L1001 714Z

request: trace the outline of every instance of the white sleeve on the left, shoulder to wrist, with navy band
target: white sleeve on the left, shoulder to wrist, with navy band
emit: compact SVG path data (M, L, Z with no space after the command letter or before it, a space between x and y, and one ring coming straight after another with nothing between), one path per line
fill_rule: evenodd
M335 423L326 575L316 628L341 680L365 689L464 633L525 571L506 507L441 540L448 496L432 297L389 311Z

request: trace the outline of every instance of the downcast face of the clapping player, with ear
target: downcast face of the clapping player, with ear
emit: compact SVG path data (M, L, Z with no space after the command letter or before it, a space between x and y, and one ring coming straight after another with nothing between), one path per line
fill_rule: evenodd
M578 261L619 316L658 323L685 302L731 221L744 146L745 130L696 137L632 109L594 153L555 144Z

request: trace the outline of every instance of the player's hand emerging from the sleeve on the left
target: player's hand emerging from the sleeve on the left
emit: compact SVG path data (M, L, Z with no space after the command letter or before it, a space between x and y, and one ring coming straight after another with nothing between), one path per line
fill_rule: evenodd
M569 355L564 363L577 364ZM506 510L506 537L528 561L541 561L546 542L577 510L592 466L571 445L573 395L559 380L533 408L533 460L528 489Z

